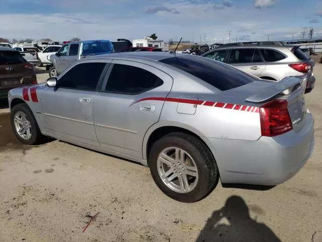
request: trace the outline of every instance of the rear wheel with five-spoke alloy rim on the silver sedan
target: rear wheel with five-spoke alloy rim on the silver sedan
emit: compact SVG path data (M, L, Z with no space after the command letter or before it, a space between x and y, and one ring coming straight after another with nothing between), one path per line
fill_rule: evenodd
M150 149L148 165L159 189L185 203L205 198L219 177L209 149L196 137L181 132L157 140Z

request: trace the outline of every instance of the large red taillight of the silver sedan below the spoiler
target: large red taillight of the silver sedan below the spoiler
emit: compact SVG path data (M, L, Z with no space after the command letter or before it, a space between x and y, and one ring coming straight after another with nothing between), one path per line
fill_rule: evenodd
M292 130L285 99L276 99L260 107L262 136L273 137Z

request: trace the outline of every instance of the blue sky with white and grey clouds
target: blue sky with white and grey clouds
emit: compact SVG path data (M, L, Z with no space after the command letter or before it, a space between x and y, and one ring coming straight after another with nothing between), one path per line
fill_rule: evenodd
M0 0L0 37L208 43L322 39L322 0ZM6 24L4 24L6 23ZM308 31L308 29L305 29ZM305 35L304 38L308 36Z

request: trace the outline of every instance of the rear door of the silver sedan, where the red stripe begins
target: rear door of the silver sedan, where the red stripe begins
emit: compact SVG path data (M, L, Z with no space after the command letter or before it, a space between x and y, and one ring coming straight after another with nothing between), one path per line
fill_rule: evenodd
M143 138L160 116L172 78L151 66L113 60L94 100L94 124L102 148L142 158ZM158 100L158 101L157 101Z

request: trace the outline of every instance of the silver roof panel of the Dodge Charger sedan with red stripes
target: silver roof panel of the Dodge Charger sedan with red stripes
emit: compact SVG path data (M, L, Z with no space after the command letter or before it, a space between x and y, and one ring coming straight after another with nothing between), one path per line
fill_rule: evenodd
M177 56L186 56L187 54L177 54ZM123 59L143 58L150 61L161 61L162 59L174 57L175 55L170 52L120 52L110 54L100 54L95 56L86 57L86 59L106 59L120 57Z

